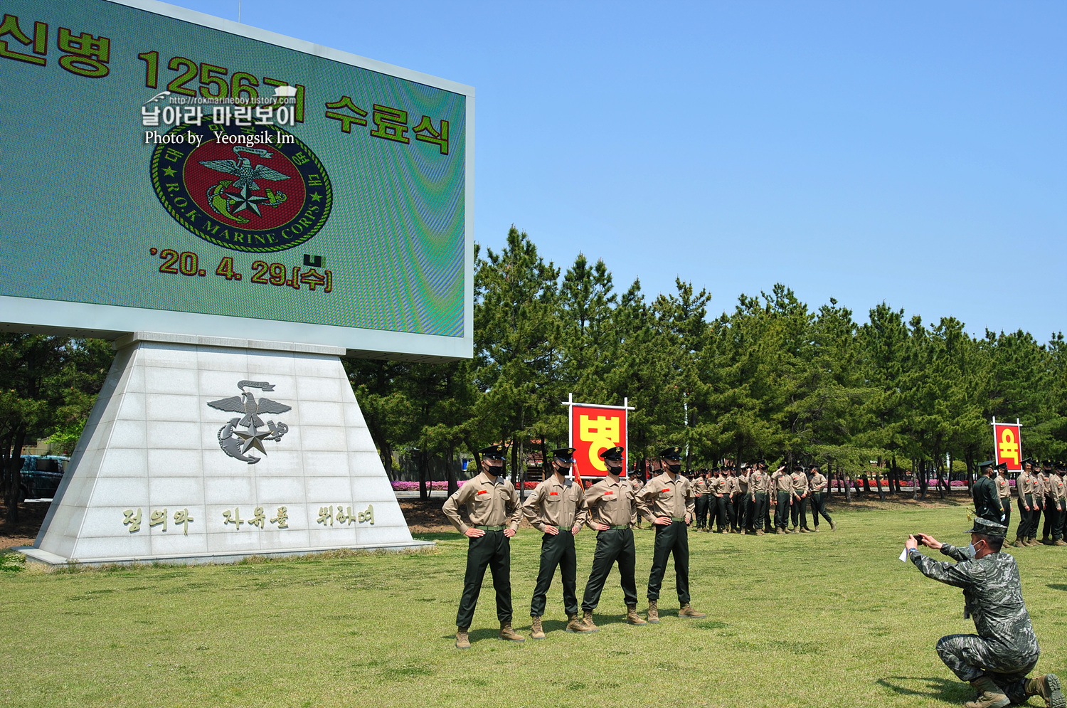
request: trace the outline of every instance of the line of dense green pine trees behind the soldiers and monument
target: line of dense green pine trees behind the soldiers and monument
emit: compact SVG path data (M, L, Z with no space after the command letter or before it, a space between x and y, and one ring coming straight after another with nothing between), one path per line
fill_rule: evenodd
M646 296L617 289L603 261L563 271L512 227L499 251L476 247L474 358L445 363L346 359L391 477L414 457L428 495L432 460L453 490L460 456L511 446L512 475L531 453L566 444L568 393L636 408L630 458L644 469L681 444L689 469L731 458L815 462L856 478L879 463L899 489L968 474L992 455L992 416L1023 424L1024 454L1067 455L1067 344L1028 332L974 336L885 302L859 322L831 299L811 309L781 284L710 314L711 295L675 281ZM42 437L74 447L113 359L110 343L0 333L0 476L17 517L18 452ZM881 493L881 485L878 484Z

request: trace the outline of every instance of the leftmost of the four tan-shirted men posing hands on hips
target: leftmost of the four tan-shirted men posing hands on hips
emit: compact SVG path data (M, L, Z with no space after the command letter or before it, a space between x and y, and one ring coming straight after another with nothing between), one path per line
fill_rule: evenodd
M467 544L466 575L463 597L456 615L456 648L471 648L467 630L481 593L485 568L493 573L496 589L496 617L500 620L500 639L524 642L525 638L511 628L511 537L519 529L523 509L519 492L504 476L504 455L507 447L490 445L481 451L481 474L467 479L445 500L442 510L456 530L471 540Z

